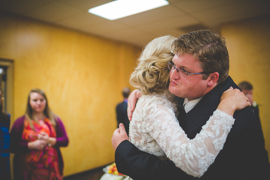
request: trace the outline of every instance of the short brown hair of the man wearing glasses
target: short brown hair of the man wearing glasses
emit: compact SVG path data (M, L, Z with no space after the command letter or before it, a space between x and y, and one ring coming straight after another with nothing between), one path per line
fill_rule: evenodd
M203 72L202 79L207 79L210 73L218 72L218 83L224 81L229 74L229 54L225 38L214 31L199 30L184 34L172 45L178 55L189 53L200 61Z

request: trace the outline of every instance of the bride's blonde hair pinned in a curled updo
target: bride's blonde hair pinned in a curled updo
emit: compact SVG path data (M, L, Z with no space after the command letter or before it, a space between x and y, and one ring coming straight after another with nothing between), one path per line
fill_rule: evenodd
M155 38L144 48L129 80L132 86L140 88L141 94L160 94L168 90L170 70L167 63L173 59L171 46L175 39L170 35Z

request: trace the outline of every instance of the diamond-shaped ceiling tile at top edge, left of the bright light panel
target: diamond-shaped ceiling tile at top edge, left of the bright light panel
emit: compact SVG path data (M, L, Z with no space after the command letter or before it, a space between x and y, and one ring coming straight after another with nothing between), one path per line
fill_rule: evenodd
M48 4L36 8L35 10L31 10L24 15L35 19L55 22L57 20L71 17L79 13L82 13L82 10L76 7L72 7L58 1L52 1Z

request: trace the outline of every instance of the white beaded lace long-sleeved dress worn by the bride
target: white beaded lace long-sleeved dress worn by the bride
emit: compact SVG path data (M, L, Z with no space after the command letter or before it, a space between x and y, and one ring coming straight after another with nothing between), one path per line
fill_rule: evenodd
M177 120L170 93L143 95L137 102L129 128L130 142L138 149L167 156L194 177L202 176L223 148L232 128L232 116L216 110L196 137L190 140Z

